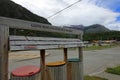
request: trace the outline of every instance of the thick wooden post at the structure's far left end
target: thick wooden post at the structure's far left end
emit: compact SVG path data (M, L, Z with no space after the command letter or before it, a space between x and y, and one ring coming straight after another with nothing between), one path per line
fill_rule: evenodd
M0 24L0 80L8 80L9 27Z

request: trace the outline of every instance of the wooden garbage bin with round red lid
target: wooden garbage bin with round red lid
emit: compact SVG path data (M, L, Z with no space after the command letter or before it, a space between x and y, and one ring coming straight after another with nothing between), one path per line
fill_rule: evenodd
M11 72L10 80L40 80L40 68L34 65L16 68Z

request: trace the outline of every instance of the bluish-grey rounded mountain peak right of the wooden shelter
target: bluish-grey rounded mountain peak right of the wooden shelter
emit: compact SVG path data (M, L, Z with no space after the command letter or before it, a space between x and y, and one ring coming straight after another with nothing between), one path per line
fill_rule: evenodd
M109 32L110 30L103 25L94 24L84 28L85 33Z

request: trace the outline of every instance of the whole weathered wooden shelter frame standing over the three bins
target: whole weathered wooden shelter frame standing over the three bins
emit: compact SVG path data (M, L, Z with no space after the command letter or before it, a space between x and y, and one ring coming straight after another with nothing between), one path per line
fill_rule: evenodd
M77 39L10 36L9 28L27 29L36 31L58 32L78 35ZM40 50L42 80L45 80L45 50L63 48L64 60L67 62L67 48L78 47L79 58L82 63L82 35L80 30L51 26L36 22L0 17L0 80L8 80L8 51ZM80 66L83 66L81 64ZM83 80L81 67L80 80ZM69 77L69 76L68 76Z

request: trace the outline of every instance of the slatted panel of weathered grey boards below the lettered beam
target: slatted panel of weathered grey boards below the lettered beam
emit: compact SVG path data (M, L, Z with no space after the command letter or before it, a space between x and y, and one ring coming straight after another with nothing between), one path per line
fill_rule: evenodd
M38 50L80 47L80 39L10 36L10 50Z

